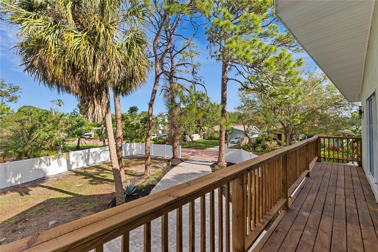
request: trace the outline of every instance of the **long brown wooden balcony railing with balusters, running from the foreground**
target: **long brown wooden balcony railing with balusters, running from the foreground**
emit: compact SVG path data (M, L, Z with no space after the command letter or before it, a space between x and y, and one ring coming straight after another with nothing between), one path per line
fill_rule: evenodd
M161 217L161 250L168 251L168 213L176 211L177 251L183 250L183 206L189 203L189 250L200 244L215 251L247 251L279 212L288 208L288 198L309 174L319 158L320 142L312 137L197 179L145 196L135 201L87 216L45 232L1 246L8 251L89 251L103 250L103 244L122 236L122 252L129 251L129 232L144 226L144 251L151 251L151 221ZM225 188L225 208L222 190ZM231 188L230 188L231 187ZM215 216L215 191L218 216ZM232 190L232 194L230 193ZM206 236L205 195L209 193L210 233ZM232 197L232 221L230 219ZM200 198L200 204L195 199ZM225 211L223 211L225 209ZM195 240L195 211L201 213L200 240ZM225 230L223 230L225 214ZM218 230L215 230L215 221ZM232 228L232 243L231 230ZM225 233L225 236L223 235ZM225 239L223 239L225 237Z

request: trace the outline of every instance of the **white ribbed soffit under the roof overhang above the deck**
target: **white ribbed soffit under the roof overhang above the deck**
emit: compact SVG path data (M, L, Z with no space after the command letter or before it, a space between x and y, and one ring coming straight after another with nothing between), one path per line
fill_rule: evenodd
M374 0L275 0L276 17L348 101L360 101Z

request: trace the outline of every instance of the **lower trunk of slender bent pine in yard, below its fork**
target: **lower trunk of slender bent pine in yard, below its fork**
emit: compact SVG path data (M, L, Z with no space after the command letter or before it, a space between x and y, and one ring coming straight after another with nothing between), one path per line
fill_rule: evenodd
M156 66L155 66L156 68ZM157 69L158 71L159 69ZM148 104L148 116L147 116L147 131L146 131L146 161L144 163L144 176L150 176L150 141L151 141L151 129L152 129L152 110L153 104L155 103L156 92L158 90L159 78L155 77L155 82L153 83L151 99Z

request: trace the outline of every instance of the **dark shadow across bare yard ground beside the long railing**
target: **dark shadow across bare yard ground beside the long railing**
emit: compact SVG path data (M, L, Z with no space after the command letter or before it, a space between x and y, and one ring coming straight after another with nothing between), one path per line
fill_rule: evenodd
M107 208L107 205L115 196L115 193L82 195L58 188L47 186L45 188L59 191L69 196L46 199L2 221L0 244L10 243L101 212ZM17 207L2 207L2 212L11 213L12 211L16 213ZM56 222L49 226L51 221Z

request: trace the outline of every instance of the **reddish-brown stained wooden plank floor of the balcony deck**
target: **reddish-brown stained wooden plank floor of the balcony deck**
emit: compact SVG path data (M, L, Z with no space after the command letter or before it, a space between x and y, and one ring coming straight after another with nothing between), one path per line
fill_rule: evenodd
M378 204L363 168L318 162L253 251L378 251Z

